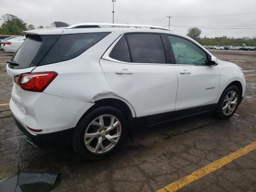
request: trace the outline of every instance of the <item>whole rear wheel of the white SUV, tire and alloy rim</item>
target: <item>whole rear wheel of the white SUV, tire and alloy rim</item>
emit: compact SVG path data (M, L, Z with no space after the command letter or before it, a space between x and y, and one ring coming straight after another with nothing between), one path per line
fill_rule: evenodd
M126 119L120 110L110 106L99 107L77 125L73 147L84 159L100 160L120 148L126 132Z

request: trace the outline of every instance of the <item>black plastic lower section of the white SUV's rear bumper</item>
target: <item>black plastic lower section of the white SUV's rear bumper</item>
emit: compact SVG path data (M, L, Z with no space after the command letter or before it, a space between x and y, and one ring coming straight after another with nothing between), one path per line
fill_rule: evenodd
M46 134L31 134L15 117L14 121L17 127L32 140L32 142L42 149L53 149L69 146L72 143L72 138L75 128L66 129L63 131L46 133Z

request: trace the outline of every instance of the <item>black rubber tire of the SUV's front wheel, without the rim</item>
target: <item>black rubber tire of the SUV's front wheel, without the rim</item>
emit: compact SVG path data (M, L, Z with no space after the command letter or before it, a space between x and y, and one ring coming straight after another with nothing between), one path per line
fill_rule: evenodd
M233 112L230 115L226 115L226 114L224 114L224 112L222 110L223 102L224 102L224 99L227 96L227 94L231 91L234 91L237 94L237 104L236 104L236 107L234 108ZM222 95L220 96L219 102L218 102L218 104L216 106L216 109L214 111L214 115L216 117L220 118L220 119L228 119L236 112L236 109L238 108L239 104L240 104L240 91L239 91L239 89L234 85L229 86L228 88L226 88L223 91Z

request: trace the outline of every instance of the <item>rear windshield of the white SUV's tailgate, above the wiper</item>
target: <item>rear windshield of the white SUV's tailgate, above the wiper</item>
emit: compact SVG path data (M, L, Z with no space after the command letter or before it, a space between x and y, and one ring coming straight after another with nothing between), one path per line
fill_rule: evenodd
M40 36L28 36L12 56L11 61L19 64L18 66L12 66L12 68L22 69L30 67L30 64L36 56L41 44L42 39Z

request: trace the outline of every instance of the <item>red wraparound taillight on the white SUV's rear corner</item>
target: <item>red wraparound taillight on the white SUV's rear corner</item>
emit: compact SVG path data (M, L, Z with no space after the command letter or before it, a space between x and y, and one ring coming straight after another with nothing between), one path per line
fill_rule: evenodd
M57 75L53 71L24 73L14 76L14 81L24 90L43 92Z

